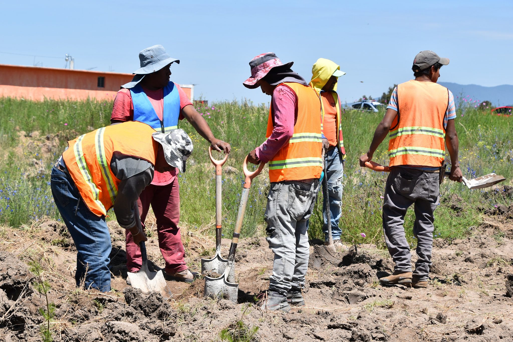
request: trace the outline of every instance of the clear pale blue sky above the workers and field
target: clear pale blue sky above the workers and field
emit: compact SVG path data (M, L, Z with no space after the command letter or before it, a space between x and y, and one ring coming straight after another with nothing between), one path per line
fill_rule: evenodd
M138 53L162 44L181 60L172 81L197 84L209 100L269 102L242 82L248 62L275 52L308 81L319 57L347 72L339 94L352 102L380 96L411 78L413 57L450 58L440 81L513 84L513 2L431 1L51 1L4 2L0 63L132 72ZM424 4L424 8L419 8ZM50 56L22 56L10 53ZM363 81L363 82L361 82Z

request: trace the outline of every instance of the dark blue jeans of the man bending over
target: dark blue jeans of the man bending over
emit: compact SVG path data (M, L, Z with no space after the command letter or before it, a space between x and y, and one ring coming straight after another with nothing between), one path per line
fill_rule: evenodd
M76 286L110 291L110 234L105 216L98 217L86 206L71 176L57 168L50 178L55 206L61 213L77 250Z

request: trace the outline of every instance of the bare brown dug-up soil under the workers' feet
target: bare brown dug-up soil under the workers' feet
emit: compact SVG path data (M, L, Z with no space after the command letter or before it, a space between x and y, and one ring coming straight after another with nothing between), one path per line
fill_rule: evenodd
M128 287L124 230L114 222L109 228L114 290L100 293L75 287L76 252L61 223L0 227L0 341L42 339L38 310L46 301L32 285L30 260L42 264L51 285L55 341L210 341L220 340L223 329L247 341L513 341L513 206L490 210L468 238L436 239L427 289L379 285L393 263L375 246L328 253L313 245L306 306L288 313L264 312L255 303L272 270L264 237L239 244L235 305L202 298L203 279L169 281L168 300ZM197 270L202 256L214 254L213 238L185 228L182 235L188 265ZM223 255L228 246L224 239ZM147 248L149 259L163 267L155 236Z

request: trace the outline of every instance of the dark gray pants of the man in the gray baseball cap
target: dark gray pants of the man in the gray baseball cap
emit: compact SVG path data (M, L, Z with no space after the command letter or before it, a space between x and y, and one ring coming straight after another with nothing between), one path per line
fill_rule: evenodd
M396 263L395 271L411 272L411 253L404 233L404 215L415 204L413 235L417 255L413 276L427 280L433 247L433 212L439 205L439 173L393 167L388 175L383 204L383 231L388 252Z

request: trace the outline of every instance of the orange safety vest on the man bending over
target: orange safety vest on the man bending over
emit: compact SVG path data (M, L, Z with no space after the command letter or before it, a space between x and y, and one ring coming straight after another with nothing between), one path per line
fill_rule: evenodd
M134 133L136 132L136 133ZM107 215L121 180L110 169L114 152L145 159L155 165L158 144L149 125L128 121L98 128L68 142L64 163L85 204L96 216Z

